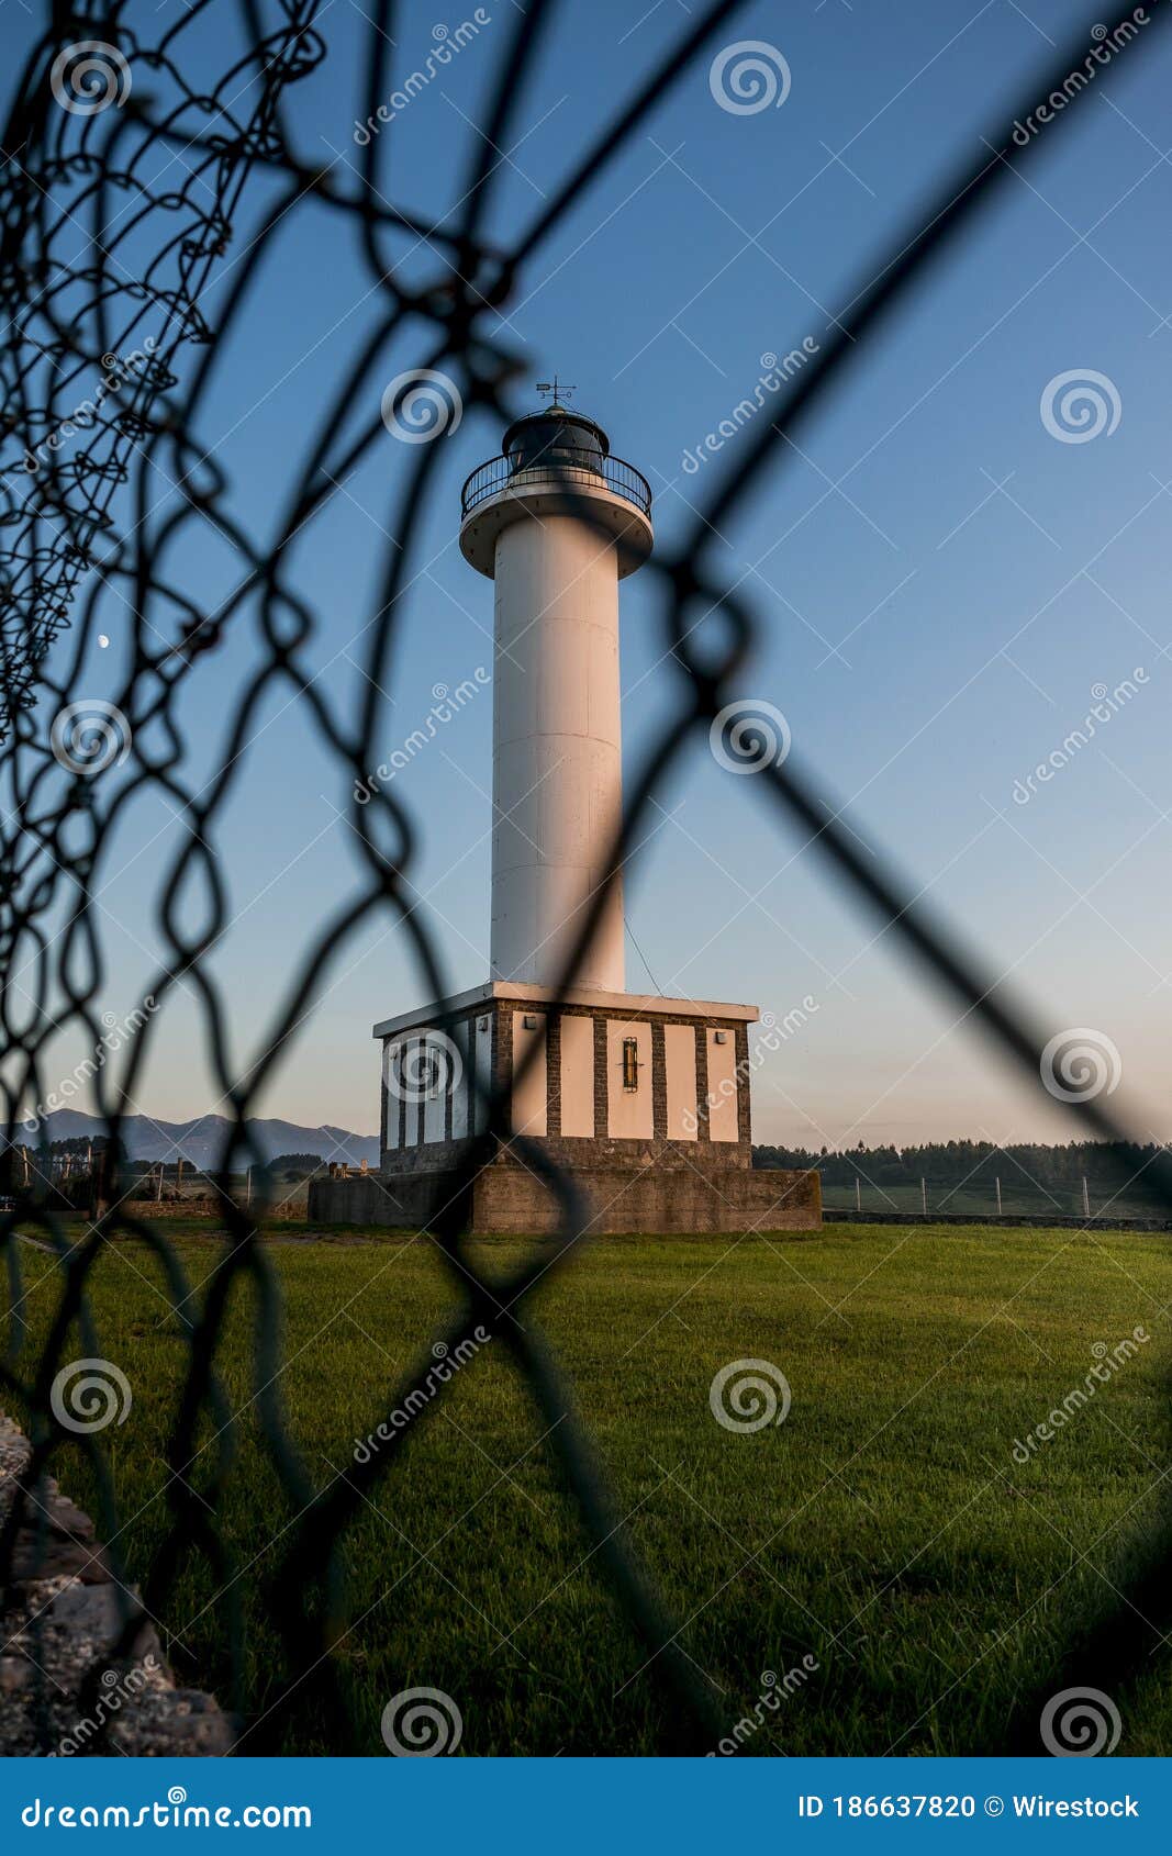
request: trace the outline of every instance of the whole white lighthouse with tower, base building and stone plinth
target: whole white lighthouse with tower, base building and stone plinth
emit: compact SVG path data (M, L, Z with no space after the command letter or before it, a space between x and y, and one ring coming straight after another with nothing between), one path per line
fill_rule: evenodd
M461 1195L474 1231L555 1231L537 1145L594 1232L808 1229L817 1173L752 1167L758 1008L626 989L620 874L607 885L619 611L654 548L652 492L544 392L461 494L461 553L494 601L488 978L375 1023L379 1171L314 1180L310 1218L420 1227ZM492 1127L490 1099L507 1108Z

